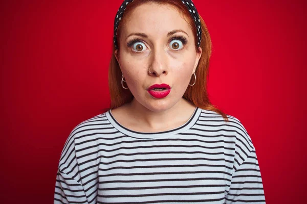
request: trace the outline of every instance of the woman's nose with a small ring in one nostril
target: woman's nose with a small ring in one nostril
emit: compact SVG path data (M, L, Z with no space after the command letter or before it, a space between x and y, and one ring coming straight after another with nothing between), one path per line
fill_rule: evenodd
M156 75L159 77L161 74L168 73L167 56L163 48L153 49L150 57L149 67L149 72L151 73L148 73L150 75Z

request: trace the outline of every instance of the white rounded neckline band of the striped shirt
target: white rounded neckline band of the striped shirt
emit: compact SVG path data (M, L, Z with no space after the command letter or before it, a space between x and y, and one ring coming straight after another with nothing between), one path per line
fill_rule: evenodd
M123 133L124 135L135 137L135 138L159 138L164 136L176 135L181 134L187 130L189 130L198 120L199 116L201 115L202 109L196 107L192 116L188 119L188 121L182 124L179 127L175 127L174 129L167 130L167 131L159 131L159 132L139 132L133 131L128 129L127 127L121 125L112 115L111 109L105 112L105 115L109 122L117 129L119 132Z

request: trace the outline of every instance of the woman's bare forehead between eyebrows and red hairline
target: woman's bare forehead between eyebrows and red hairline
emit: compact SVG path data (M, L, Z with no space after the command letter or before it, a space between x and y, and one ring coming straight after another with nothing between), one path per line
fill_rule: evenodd
M192 30L184 16L171 5L146 3L132 10L124 20L122 33L142 32L150 36L165 35L176 29L182 29L192 36Z

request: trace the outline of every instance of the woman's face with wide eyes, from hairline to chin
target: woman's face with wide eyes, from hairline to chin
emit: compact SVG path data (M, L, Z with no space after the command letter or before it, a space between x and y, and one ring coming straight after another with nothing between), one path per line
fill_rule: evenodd
M169 5L143 4L126 17L119 39L120 52L115 52L126 86L134 100L147 109L170 109L189 86L202 49L196 52L189 24ZM149 73L149 68L154 73ZM164 98L153 97L147 91L153 84L168 84L170 93Z

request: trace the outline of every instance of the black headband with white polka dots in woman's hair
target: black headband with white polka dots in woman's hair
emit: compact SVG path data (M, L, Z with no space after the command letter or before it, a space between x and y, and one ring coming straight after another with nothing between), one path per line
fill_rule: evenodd
M117 14L115 16L114 36L113 36L115 49L118 49L116 36L117 36L117 27L118 27L119 21L122 19L123 13L126 10L127 5L131 2L133 2L133 1L134 0L125 0L122 3L122 5L120 6L120 8L118 9ZM196 25L196 28L197 28L196 35L198 37L198 39L197 39L198 40L198 46L201 46L201 41L202 41L202 39L201 39L201 37L202 37L201 20L200 20L199 14L198 14L192 0L178 0L178 1L181 1L184 5L186 5L186 7L189 10L191 16L194 18L195 25Z

